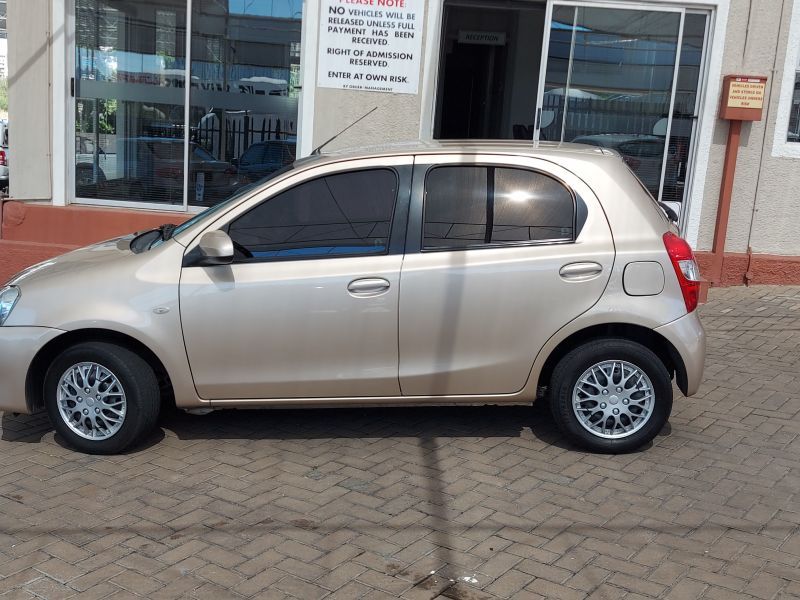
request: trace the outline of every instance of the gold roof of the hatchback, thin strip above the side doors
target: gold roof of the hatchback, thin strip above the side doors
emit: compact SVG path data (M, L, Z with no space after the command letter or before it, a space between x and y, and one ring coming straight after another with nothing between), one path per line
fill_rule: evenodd
M301 161L316 159L320 162L338 162L360 158L384 156L412 156L421 154L508 154L512 156L531 156L556 159L572 156L586 160L602 160L616 156L616 153L598 146L572 144L569 142L532 142L527 140L419 140L395 142L380 146L343 148L331 152L322 151Z

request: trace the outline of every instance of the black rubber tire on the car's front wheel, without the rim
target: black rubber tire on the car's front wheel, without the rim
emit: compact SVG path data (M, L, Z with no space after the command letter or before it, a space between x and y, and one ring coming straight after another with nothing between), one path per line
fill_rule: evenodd
M92 362L108 369L125 392L126 408L122 426L106 439L87 439L73 431L58 409L58 385L72 366ZM85 342L64 350L47 371L44 382L45 407L50 421L66 442L88 454L117 454L140 442L158 421L161 394L153 369L138 354L107 342Z

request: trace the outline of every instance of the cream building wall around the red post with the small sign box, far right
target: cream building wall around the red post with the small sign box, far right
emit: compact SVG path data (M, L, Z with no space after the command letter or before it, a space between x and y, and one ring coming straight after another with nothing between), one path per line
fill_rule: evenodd
M800 255L800 158L773 157L771 152L794 3L731 0L723 75L766 75L769 82L763 120L742 127L726 252L747 252L749 245L760 254ZM792 43L800 44L800 39ZM728 123L717 120L700 217L700 250L711 249L727 133Z

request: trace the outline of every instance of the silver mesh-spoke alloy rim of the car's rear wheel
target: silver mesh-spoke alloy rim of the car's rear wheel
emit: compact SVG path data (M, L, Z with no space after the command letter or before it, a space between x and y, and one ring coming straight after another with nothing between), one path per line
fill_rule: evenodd
M578 378L572 410L592 435L619 439L633 435L653 415L655 391L647 374L624 360L595 363Z

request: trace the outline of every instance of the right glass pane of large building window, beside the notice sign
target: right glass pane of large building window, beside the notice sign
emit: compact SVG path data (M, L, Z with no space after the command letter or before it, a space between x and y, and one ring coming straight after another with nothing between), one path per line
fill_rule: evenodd
M189 204L216 204L294 161L302 9L302 0L192 2L190 135L216 162L192 165Z

